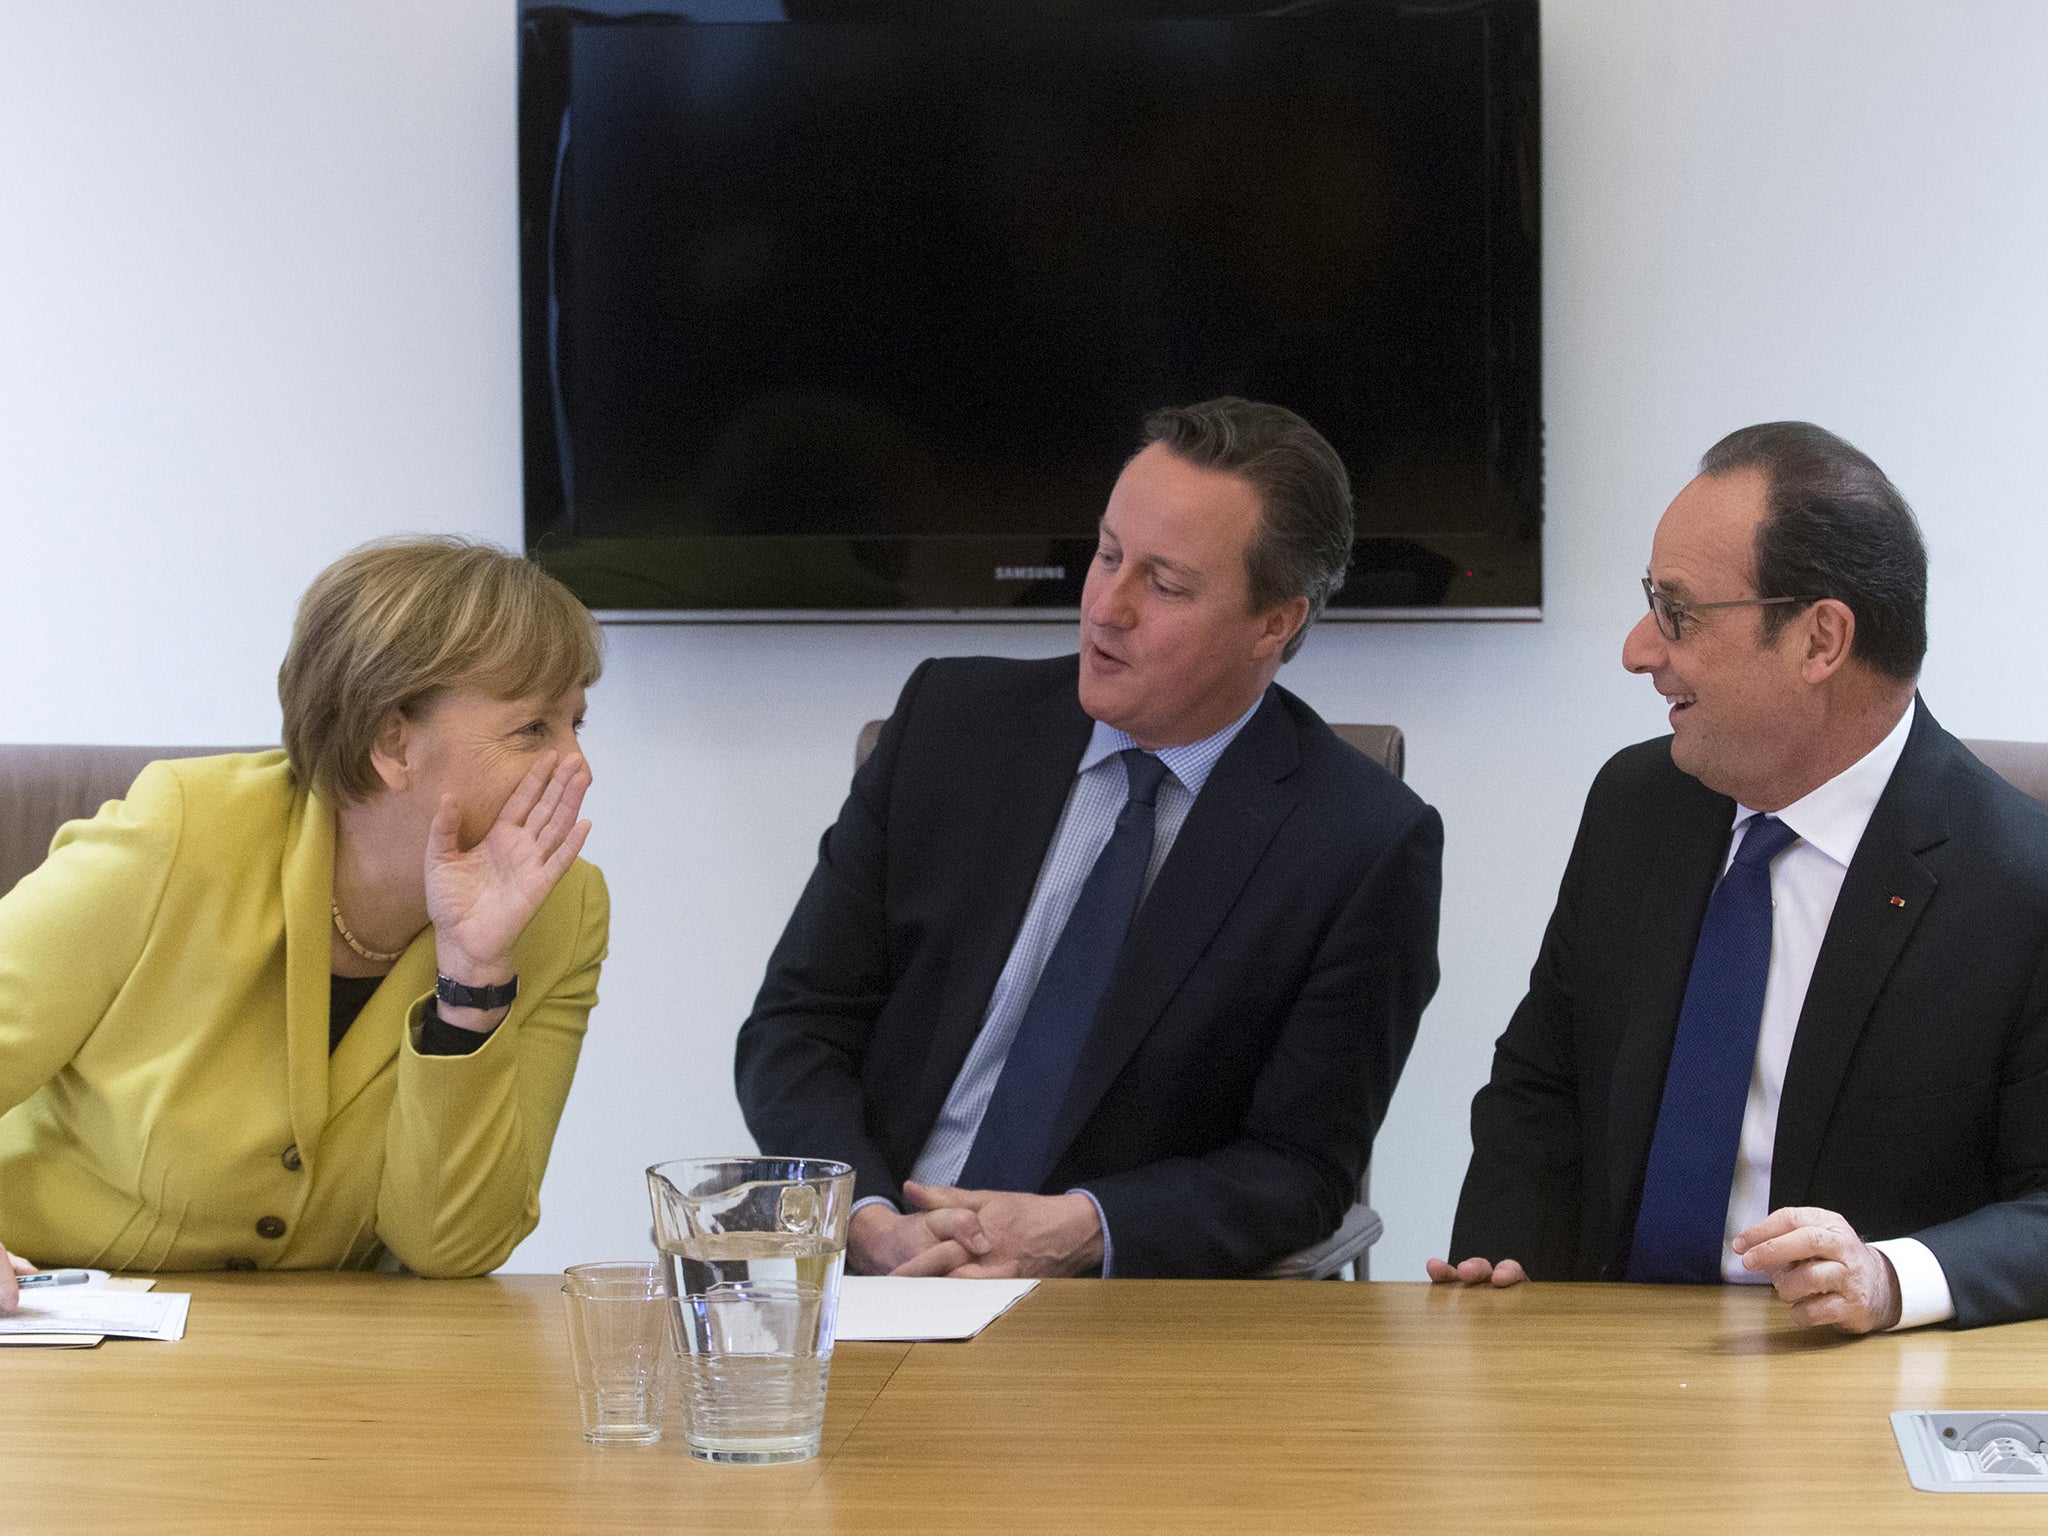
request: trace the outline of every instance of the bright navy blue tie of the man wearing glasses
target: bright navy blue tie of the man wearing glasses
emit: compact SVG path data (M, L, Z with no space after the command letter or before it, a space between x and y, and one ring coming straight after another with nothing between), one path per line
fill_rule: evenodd
M1630 1280L1714 1284L1772 971L1772 860L1798 838L1751 817L1706 903L1642 1176Z

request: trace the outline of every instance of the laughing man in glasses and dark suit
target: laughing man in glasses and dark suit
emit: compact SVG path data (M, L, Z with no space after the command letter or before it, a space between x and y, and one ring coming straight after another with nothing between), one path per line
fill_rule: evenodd
M1671 735L1593 782L1432 1278L1769 1280L1855 1333L2048 1313L2048 815L1917 698L1925 571L1804 422L1671 502L1622 649Z

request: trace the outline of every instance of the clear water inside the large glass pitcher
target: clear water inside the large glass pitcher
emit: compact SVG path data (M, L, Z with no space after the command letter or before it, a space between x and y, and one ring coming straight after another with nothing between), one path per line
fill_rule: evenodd
M664 1243L678 1296L688 1442L719 1462L817 1454L846 1249L819 1235Z

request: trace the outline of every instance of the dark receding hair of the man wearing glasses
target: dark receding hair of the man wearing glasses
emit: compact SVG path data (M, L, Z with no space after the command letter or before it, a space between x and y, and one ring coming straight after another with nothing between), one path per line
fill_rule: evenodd
M1847 604L1855 614L1849 655L1913 682L1927 655L1927 547L1884 471L1812 422L1745 426L1700 459L1704 475L1737 469L1761 469L1767 481L1757 596ZM1765 643L1794 612L1790 604L1761 610Z

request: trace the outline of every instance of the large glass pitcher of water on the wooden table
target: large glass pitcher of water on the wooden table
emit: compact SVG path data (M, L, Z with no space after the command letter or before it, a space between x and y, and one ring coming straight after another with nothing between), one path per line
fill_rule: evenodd
M854 1169L694 1157L647 1169L676 1296L684 1436L707 1462L817 1454Z

